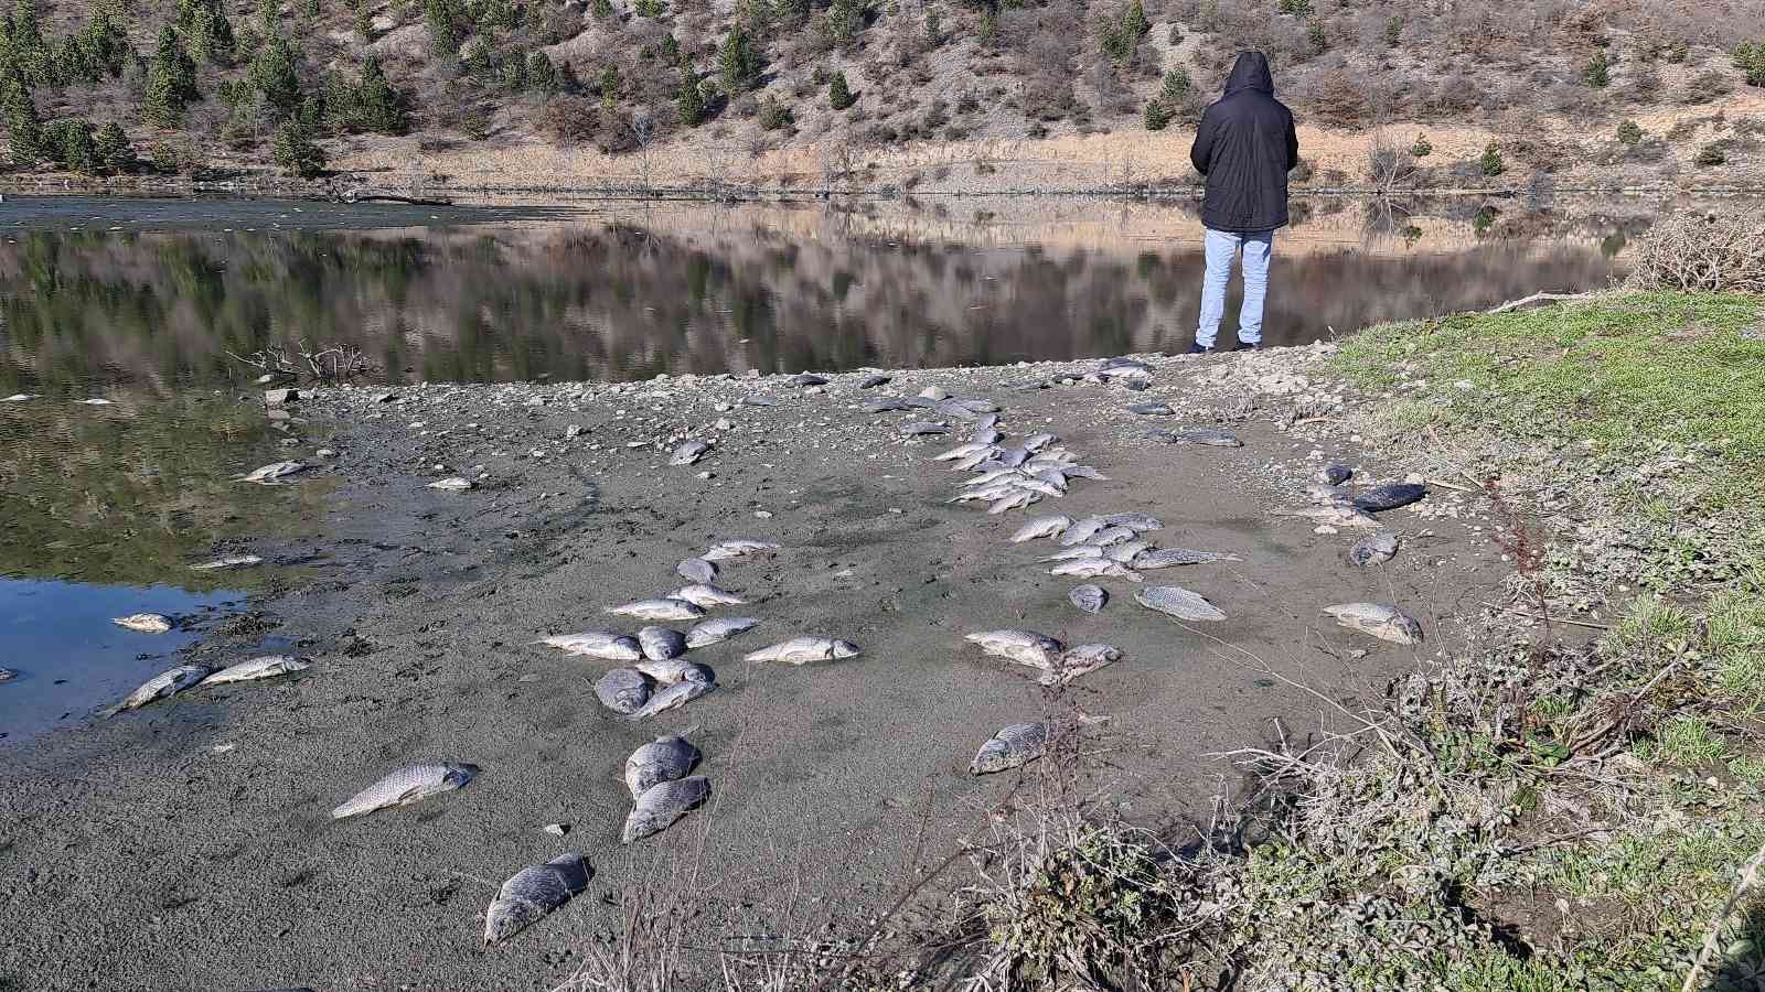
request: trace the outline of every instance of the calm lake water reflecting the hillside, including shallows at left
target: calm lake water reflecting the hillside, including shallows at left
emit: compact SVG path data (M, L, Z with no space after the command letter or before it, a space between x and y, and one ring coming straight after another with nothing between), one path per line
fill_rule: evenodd
M1608 284L1659 207L1296 203L1266 341ZM252 362L332 349L364 381L634 380L1175 351L1198 309L1193 203L427 208L0 203L0 743L169 667L275 575L191 565L307 533L325 492L231 475L309 450ZM1236 312L1237 298L1230 302ZM106 399L109 404L79 401Z

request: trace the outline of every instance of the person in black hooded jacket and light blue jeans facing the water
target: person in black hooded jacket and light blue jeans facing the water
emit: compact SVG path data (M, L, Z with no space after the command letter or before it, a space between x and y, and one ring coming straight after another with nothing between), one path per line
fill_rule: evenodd
M1202 224L1207 228L1207 275L1202 318L1190 353L1214 349L1225 316L1225 284L1243 251L1244 307L1237 316L1237 348L1262 346L1262 298L1269 288L1274 229L1287 226L1287 171L1299 164L1294 115L1274 99L1269 58L1241 51L1220 97L1190 148L1195 171L1207 177Z

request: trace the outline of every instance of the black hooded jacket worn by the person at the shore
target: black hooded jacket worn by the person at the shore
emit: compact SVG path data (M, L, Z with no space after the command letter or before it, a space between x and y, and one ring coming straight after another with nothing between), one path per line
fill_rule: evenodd
M1299 138L1260 51L1239 53L1225 97L1202 115L1190 161L1207 177L1204 224L1237 233L1287 226L1287 169L1299 164Z

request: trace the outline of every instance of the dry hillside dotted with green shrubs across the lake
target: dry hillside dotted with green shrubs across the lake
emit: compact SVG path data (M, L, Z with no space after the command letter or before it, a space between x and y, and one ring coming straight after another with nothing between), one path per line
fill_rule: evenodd
M1131 189L1193 178L1188 122L1260 48L1313 187L1761 187L1758 25L1765 0L19 0L0 101L14 173Z

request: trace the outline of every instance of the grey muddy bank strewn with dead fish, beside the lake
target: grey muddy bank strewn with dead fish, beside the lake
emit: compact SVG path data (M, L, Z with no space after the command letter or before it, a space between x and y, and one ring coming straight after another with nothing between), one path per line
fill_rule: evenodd
M311 565L293 591L191 651L221 664L275 628L298 639L311 673L185 694L5 750L0 987L551 988L612 923L609 904L658 865L697 865L702 946L784 927L787 906L849 925L978 830L1011 787L1011 775L974 778L967 763L1003 724L1034 718L1041 694L1025 669L967 648L969 630L1121 648L1121 664L1078 683L1082 706L1112 717L1098 738L1112 771L1098 787L1149 826L1205 819L1230 773L1214 752L1264 740L1276 717L1299 733L1317 724L1317 701L1258 664L1371 699L1419 653L1449 650L1456 618L1502 574L1451 489L1386 514L1405 547L1377 570L1343 560L1356 531L1269 514L1301 503L1327 459L1361 466L1366 482L1387 477L1386 452L1320 443L1357 402L1304 378L1327 351L1153 358L1142 392L1089 381L1098 362L913 371L868 392L860 374L824 388L715 376L328 392L300 408L298 450L335 452L316 470L341 480L334 514L327 533L275 549L305 551ZM1054 376L1070 385L1020 388ZM1149 535L1158 545L1241 556L1147 572L1147 584L1205 593L1228 620L1175 625L1119 579L1101 581L1114 598L1100 616L1073 609L1078 579L1034 565L1047 544L1006 540L1024 512L946 503L960 473L932 455L955 441L900 432L925 411L861 411L927 387L988 397L1008 434L1055 432L1108 477L1075 480L1031 515L1144 510L1165 521ZM1149 401L1177 415L1130 413ZM1145 438L1186 425L1230 429L1244 447ZM715 447L669 466L687 436ZM427 487L455 473L477 487ZM732 537L782 552L725 567L720 582L748 600L731 612L762 625L690 655L722 690L630 724L595 701L607 665L528 644L637 627L604 607L680 586L676 561ZM1426 646L1318 616L1364 598L1421 618ZM863 655L740 660L808 632ZM704 752L713 801L621 847L620 768L665 731ZM328 819L418 759L484 773L408 808ZM563 851L593 865L588 895L485 950L494 884Z

